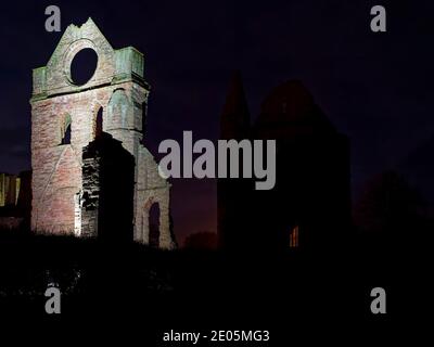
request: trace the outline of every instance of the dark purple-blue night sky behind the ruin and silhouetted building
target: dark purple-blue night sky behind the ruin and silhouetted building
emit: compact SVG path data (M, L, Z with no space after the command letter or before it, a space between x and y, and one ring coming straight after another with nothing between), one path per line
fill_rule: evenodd
M422 159L417 153L434 143L432 1L234 2L3 2L0 171L30 168L31 69L47 64L67 25L89 16L113 48L133 46L145 54L152 86L145 144L154 154L162 140L181 139L183 130L196 140L217 139L231 72L241 69L253 117L272 87L288 79L305 83L350 138L354 198L367 179L409 157L423 171L432 152ZM62 33L44 30L49 4L61 8ZM375 4L386 8L387 33L370 30ZM215 182L173 184L178 239L216 231Z

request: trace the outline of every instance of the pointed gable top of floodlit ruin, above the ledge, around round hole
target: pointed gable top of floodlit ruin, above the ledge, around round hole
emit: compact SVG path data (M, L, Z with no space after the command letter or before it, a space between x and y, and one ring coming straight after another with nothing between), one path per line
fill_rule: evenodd
M76 54L84 49L97 53L98 65L93 76L80 85L72 78L71 66ZM143 54L133 47L113 49L92 18L89 18L81 26L69 25L48 64L33 70L30 102L132 80L149 90L143 73Z

